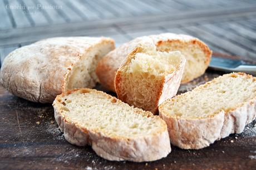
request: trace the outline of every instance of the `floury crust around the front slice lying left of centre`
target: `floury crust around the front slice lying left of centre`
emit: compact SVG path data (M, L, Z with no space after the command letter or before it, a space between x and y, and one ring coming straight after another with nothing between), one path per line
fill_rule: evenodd
M81 90L83 93L97 93L110 100L122 103L119 99L104 92L96 91L95 89L74 89L58 95L53 102L55 119L68 142L77 146L86 146L89 144L99 156L110 161L155 161L166 157L171 152L168 129L164 121L161 129L156 133L138 138L109 137L107 134L101 132L100 129L87 129L76 122L72 122L68 117L63 115L60 101L63 96L77 90ZM134 109L138 114L144 114L147 117L153 116L152 113L142 111L142 109ZM158 116L155 116L155 118L160 120Z

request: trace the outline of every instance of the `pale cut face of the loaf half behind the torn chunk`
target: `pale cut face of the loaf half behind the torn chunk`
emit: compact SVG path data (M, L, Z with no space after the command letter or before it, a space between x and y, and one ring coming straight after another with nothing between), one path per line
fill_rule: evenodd
M209 47L199 39L191 38L190 41L174 39L157 44L159 51L180 51L186 58L181 83L187 83L204 74L210 63L211 51Z

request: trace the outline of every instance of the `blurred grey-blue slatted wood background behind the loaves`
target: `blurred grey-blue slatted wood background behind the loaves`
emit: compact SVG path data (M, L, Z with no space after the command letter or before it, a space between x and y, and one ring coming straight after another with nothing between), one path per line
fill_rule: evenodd
M116 45L190 34L217 53L256 61L254 0L0 0L0 57L42 38L107 36Z

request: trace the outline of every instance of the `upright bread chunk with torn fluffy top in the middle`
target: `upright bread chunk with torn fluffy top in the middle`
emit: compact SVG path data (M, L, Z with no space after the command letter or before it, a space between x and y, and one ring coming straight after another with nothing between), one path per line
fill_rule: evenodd
M176 95L185 66L179 51L157 52L155 46L137 46L115 77L121 101L156 113L158 106Z

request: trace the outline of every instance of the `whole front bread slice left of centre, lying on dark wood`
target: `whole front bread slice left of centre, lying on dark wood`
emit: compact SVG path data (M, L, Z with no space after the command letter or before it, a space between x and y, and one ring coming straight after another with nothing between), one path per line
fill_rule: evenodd
M56 97L53 107L66 140L77 146L90 144L105 159L155 161L171 151L163 119L104 92L68 91Z

